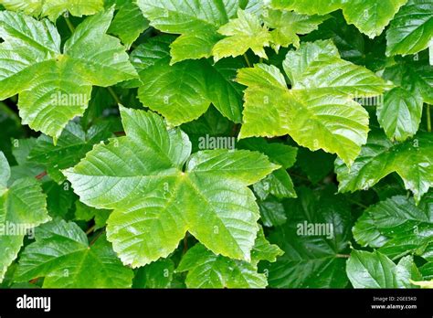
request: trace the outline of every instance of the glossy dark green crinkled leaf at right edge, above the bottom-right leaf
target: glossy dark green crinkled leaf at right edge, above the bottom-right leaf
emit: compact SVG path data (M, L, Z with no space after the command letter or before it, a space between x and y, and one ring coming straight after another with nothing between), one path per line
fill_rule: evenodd
M391 259L407 253L420 255L433 242L433 208L415 206L412 198L393 196L364 211L354 226L354 238L362 246L381 248Z

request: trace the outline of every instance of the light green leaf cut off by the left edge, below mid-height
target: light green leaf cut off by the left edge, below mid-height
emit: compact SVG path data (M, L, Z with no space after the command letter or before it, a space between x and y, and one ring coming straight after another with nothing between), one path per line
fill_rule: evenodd
M37 180L22 178L7 187L9 177L9 164L0 152L0 281L16 260L27 231L50 220Z

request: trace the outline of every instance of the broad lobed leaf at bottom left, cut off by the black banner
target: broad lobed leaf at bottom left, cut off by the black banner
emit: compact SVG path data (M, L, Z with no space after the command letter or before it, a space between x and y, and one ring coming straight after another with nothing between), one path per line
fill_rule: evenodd
M16 281L45 277L45 288L132 286L132 270L121 264L105 236L89 245L78 225L60 220L37 228L35 238L19 260Z

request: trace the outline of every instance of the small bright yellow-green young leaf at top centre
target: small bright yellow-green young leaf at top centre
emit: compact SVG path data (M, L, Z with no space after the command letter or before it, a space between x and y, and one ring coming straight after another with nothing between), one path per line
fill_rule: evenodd
M261 26L258 16L238 10L238 18L221 26L218 33L226 36L212 49L215 61L221 58L238 57L250 48L260 58L268 58L265 47L269 47L272 37L265 26Z

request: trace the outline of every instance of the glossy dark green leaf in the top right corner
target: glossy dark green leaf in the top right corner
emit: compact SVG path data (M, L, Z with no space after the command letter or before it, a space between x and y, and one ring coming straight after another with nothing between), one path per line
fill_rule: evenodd
M433 37L433 3L409 0L386 32L386 55L415 54L428 48Z

